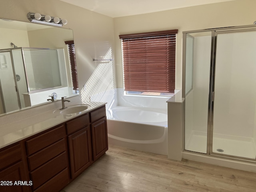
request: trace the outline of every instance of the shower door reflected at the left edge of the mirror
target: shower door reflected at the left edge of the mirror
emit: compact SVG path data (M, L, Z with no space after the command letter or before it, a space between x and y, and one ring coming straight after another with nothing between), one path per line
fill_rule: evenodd
M10 112L20 108L18 94L16 92L16 81L12 66L10 51L0 52L0 82L2 102L5 111Z

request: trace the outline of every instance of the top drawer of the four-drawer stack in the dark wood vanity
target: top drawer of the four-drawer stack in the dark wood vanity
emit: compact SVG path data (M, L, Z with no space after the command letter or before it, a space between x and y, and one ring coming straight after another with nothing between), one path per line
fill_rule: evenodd
M64 125L41 134L35 138L26 141L28 155L31 155L47 146L61 140L65 136Z

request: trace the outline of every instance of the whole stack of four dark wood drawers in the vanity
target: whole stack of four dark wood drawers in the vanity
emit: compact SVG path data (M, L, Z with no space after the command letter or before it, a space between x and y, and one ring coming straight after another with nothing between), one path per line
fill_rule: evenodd
M68 153L64 125L26 140L26 148L33 191L55 192L68 184Z

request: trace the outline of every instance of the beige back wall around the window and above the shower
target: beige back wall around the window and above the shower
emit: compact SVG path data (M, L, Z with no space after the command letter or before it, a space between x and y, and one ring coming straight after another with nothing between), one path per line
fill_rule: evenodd
M178 29L176 89L182 86L182 32L206 28L250 25L256 20L255 0L236 0L150 14L114 18L117 87L123 87L120 34Z

